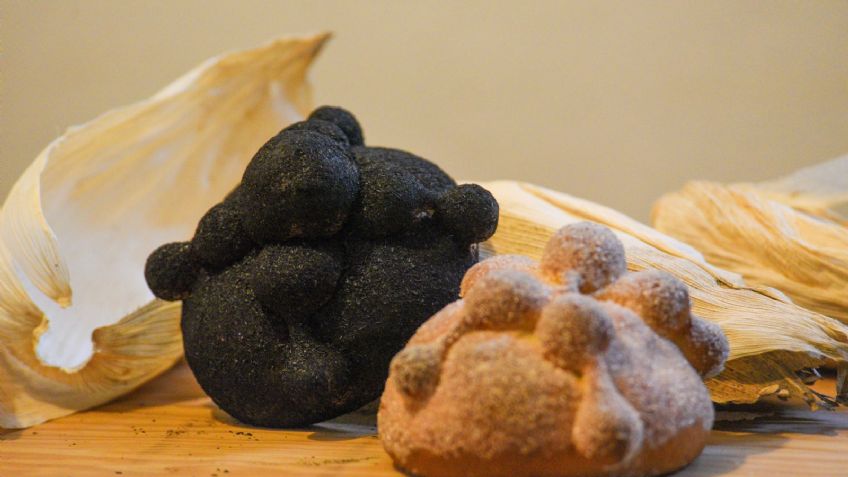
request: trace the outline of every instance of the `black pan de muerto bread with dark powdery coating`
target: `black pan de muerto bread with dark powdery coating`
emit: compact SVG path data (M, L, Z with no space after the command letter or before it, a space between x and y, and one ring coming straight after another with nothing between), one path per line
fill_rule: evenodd
M392 356L459 296L497 220L482 187L365 146L353 115L322 107L262 146L145 276L183 300L186 359L215 403L245 423L302 426L380 396Z

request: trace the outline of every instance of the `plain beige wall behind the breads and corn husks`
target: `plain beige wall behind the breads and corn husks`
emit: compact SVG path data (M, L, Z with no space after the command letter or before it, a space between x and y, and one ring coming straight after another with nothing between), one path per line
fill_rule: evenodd
M0 196L69 125L203 59L335 32L317 103L463 179L645 220L690 179L848 152L848 1L0 0Z

